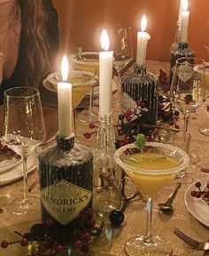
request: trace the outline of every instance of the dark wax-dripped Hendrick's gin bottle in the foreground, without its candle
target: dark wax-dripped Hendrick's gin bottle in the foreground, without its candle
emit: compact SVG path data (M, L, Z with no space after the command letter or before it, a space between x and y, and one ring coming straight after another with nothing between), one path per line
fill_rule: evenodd
M57 135L57 145L38 156L43 223L52 219L58 237L81 229L81 214L92 207L93 155Z

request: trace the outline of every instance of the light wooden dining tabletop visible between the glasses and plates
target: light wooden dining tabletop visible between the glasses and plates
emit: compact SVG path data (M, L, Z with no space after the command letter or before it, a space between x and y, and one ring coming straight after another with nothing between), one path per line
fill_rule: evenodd
M168 62L162 62L157 60L146 60L147 69L149 72L159 76L159 69L163 69L168 74L170 64ZM58 101L57 94L48 92L45 88L40 89L42 95L43 104L43 116L46 127L46 141L53 140L58 132ZM117 92L114 92L113 97L117 97ZM97 98L97 97L96 97ZM115 100L114 100L115 101ZM95 100L97 103L97 99ZM94 108L98 108L97 104ZM86 111L86 112L85 112ZM86 113L87 121L78 122L76 125L76 136L78 143L88 146L93 151L97 148L97 132L86 139L83 135L84 132L89 132L89 117L88 109L81 111ZM114 108L113 108L114 111ZM117 111L116 111L117 112ZM78 114L78 115L81 115ZM1 106L1 116L2 116ZM79 118L77 118L80 120ZM180 129L183 125L183 118L180 115L178 124ZM153 213L152 213L152 233L155 236L162 236L168 240L173 247L174 256L203 256L209 255L209 252L198 251L190 249L180 238L174 235L174 228L179 228L182 232L197 239L198 241L206 242L209 240L209 205L207 211L202 212L207 218L207 225L202 223L203 221L197 220L192 214L192 210L189 211L185 202L185 195L187 189L197 180L208 179L209 172L201 172L198 164L207 165L209 168L209 136L202 135L198 132L198 127L201 124L209 124L209 113L206 111L205 105L197 110L190 116L189 132L191 134L190 152L197 154L200 160L196 164L190 163L187 167L187 174L183 178L172 180L166 188L159 192L158 196L153 201ZM36 157L36 154L34 155ZM38 163L38 161L37 161ZM28 173L28 185L30 186L38 178L38 164L34 170ZM12 169L15 172L15 168ZM1 175L1 173L0 173ZM167 196L171 194L177 182L181 182L182 186L178 190L178 193L174 199L174 214L166 215L159 211L159 203L166 201ZM135 192L135 186L128 180L127 193L132 194ZM21 193L23 190L22 176L19 179L12 180L11 182L0 182L0 241L16 241L19 237L14 231L18 231L21 234L28 232L29 228L35 224L40 223L41 210L40 205L37 206L37 213L27 216L19 216L7 212L6 205L14 197ZM133 191L132 191L133 190ZM29 192L30 195L39 196L39 185L32 188ZM188 195L187 195L188 196ZM191 197L191 201L196 198ZM125 256L124 244L129 237L137 234L143 234L145 230L146 211L145 203L140 197L135 197L128 203L124 214L125 220L119 228L113 228L108 220L104 221L104 228L99 237L90 247L87 255L120 255ZM196 209L197 210L197 209ZM201 209L199 209L201 211ZM73 252L72 255L83 255L81 252ZM1 256L25 256L27 255L27 248L22 247L19 244L9 245L6 249L0 248Z

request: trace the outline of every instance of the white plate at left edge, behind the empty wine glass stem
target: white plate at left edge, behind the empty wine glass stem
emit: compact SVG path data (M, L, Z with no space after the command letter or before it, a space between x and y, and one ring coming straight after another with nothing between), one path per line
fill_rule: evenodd
M35 152L31 153L27 158L27 173L32 172L37 164L37 157ZM9 172L3 172L0 174L0 185L11 183L15 180L19 180L23 176L22 164L14 166Z

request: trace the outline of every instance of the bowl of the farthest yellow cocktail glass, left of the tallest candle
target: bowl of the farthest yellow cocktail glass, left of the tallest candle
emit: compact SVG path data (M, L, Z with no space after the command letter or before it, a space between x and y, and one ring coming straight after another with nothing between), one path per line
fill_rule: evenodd
M78 60L75 54L70 56L70 60L74 64L74 68L82 71L89 71L99 76L99 53L82 52L81 58L81 60Z

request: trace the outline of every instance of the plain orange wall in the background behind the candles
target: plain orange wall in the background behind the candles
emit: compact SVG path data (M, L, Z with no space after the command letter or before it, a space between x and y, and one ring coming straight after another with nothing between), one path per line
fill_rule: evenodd
M143 13L147 16L148 60L169 60L174 42L180 0L54 0L58 11L60 52L70 55L76 46L83 51L101 51L99 37L108 25L129 24L133 29L134 50L136 31L141 28ZM209 0L189 0L190 48L199 58L209 60L204 48L205 28L209 18Z

